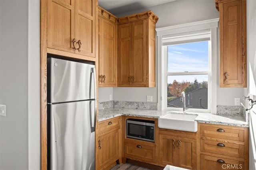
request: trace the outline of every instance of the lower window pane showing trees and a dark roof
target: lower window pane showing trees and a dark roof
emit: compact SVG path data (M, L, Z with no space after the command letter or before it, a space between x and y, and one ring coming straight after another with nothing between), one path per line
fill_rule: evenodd
M167 76L167 107L180 107L181 92L186 94L186 107L208 109L208 75Z

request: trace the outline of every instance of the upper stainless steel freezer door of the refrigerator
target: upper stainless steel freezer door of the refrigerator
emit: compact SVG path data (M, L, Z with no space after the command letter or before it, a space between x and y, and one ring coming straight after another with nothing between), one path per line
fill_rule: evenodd
M48 58L48 103L95 99L95 66Z

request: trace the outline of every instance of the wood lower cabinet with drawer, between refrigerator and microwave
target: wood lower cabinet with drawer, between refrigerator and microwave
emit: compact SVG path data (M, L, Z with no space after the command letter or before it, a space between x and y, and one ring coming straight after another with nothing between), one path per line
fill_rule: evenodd
M116 117L98 123L96 135L96 170L110 169L121 162L121 118Z

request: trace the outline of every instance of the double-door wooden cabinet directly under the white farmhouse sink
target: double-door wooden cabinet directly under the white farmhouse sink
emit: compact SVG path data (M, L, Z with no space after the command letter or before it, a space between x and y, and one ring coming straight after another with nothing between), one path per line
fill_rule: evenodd
M183 135L178 135L179 132ZM167 129L160 129L159 133L161 165L196 169L196 133L189 134L189 132L169 131Z

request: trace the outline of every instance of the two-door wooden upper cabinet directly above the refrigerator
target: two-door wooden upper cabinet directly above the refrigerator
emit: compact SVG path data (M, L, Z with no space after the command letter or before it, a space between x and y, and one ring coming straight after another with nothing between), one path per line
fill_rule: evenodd
M95 57L96 2L48 0L47 47Z

